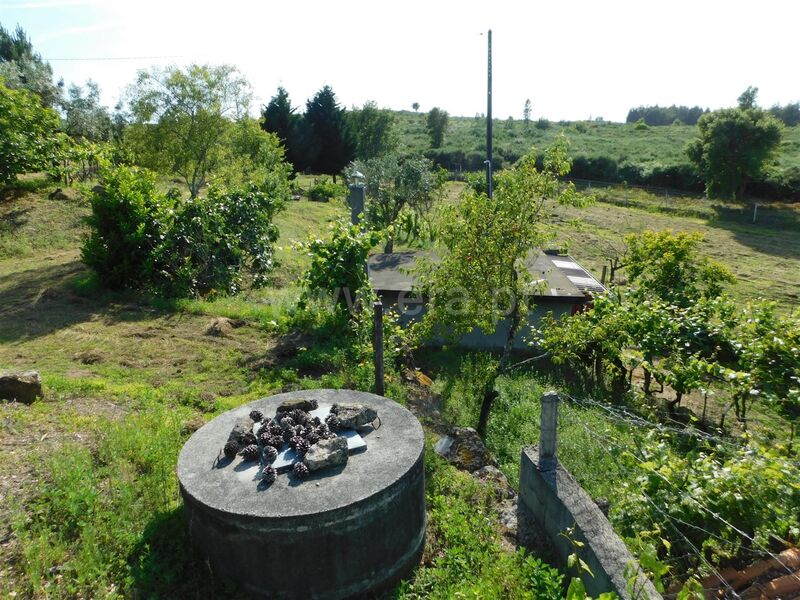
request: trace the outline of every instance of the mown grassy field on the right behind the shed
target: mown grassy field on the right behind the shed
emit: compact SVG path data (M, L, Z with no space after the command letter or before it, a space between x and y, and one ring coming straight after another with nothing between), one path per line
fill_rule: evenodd
M602 190L599 200L584 209L558 207L553 222L554 245L568 248L595 276L624 249L627 234L696 231L704 236L702 251L737 277L730 290L734 297L777 300L785 310L800 305L800 207L763 206L753 224L752 207L740 205L665 199L619 188Z

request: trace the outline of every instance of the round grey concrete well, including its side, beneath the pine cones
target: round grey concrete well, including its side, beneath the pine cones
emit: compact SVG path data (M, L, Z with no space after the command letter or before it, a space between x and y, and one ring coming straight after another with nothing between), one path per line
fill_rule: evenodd
M256 462L221 450L251 410L267 416L290 399L320 407L359 403L380 427L359 430L366 449L347 464L299 481L280 474L265 486ZM349 598L396 583L417 564L425 533L423 434L387 398L311 390L262 398L220 415L186 442L178 479L192 544L211 569L254 596Z

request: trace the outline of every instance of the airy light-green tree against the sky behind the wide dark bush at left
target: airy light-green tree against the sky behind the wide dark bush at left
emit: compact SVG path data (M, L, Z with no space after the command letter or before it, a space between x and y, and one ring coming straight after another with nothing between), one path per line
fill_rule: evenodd
M247 118L249 83L230 65L154 68L139 72L129 95L128 141L139 162L178 175L197 197L229 158L226 141Z

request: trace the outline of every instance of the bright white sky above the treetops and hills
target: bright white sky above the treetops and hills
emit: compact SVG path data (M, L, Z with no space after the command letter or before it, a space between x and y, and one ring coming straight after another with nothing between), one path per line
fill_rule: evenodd
M113 105L153 64L231 63L256 106L278 85L303 105L329 84L347 107L486 111L486 35L494 116L625 119L640 104L759 104L800 99L800 3L672 0L0 0L67 83L92 78ZM56 58L180 57L113 61Z

